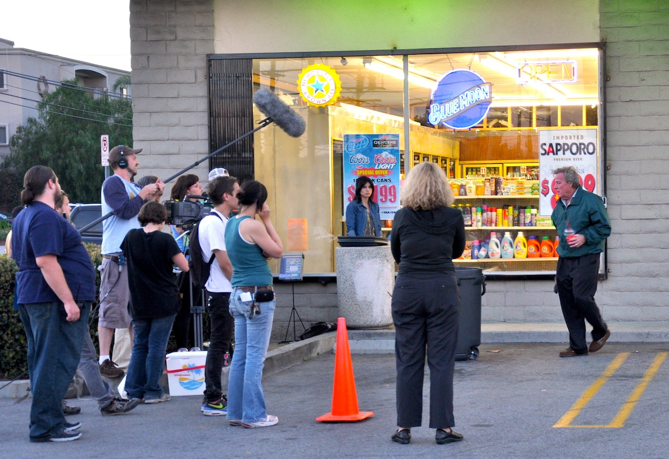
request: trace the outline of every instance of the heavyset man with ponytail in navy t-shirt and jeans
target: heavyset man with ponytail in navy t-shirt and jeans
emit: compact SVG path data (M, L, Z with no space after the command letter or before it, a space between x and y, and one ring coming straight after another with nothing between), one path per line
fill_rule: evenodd
M60 185L54 171L31 167L23 179L26 205L13 223L19 270L16 295L27 339L33 401L31 442L77 440L80 423L66 422L62 400L79 364L95 298L95 271L82 238L56 213Z

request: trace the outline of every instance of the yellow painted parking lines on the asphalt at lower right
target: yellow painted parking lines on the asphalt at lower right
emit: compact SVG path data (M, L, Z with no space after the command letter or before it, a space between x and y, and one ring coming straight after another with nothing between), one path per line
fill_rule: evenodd
M636 403L639 401L641 398L641 395L644 393L646 390L646 387L648 387L648 384L650 381L652 381L653 377L655 374L658 372L660 369L660 365L662 365L662 362L664 359L666 359L668 353L662 352L659 353L653 363L650 364L650 367L646 370L646 373L644 373L644 377L642 380L634 387L632 390L632 393L630 393L630 396L626 399L626 401L623 403L622 407L620 410L617 412L613 420L611 421L610 424L605 424L605 425L584 425L584 426L578 426L578 425L572 425L571 422L576 418L576 416L579 415L581 412L581 409L587 405L587 403L594 397L594 395L601 389L601 387L608 381L608 379L619 369L619 367L622 365L622 363L630 357L630 353L621 353L618 354L615 359L609 364L608 367L601 373L599 378L592 383L588 389L583 392L583 395L579 397L579 399L572 405L571 408L565 413L565 415L560 418L560 420L555 424L555 428L623 428L625 426L625 421L630 417L630 414L632 414L632 410L634 409L634 406Z

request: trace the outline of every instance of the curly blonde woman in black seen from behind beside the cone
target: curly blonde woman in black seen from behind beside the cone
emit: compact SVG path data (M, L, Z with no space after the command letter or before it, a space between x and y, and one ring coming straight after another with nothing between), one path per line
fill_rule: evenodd
M451 428L453 370L460 293L453 258L465 245L464 219L450 207L453 193L444 171L434 163L414 167L402 189L404 207L395 213L390 235L399 273L393 290L397 365L397 432L394 442L411 441L421 425L425 348L429 365L429 427L436 442L462 440Z

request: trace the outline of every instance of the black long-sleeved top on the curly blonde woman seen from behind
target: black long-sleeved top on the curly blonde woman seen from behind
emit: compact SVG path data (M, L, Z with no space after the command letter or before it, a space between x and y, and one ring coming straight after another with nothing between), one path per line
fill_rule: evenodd
M395 213L390 246L399 274L454 273L453 258L464 251L464 219L454 207Z

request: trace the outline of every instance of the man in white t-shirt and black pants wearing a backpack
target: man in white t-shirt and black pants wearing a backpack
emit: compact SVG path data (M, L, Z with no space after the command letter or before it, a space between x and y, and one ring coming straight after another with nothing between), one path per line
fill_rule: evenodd
M230 292L232 292L232 264L225 251L225 223L230 213L237 207L237 191L240 184L235 177L217 177L209 182L207 190L214 204L212 214L199 223L199 243L202 259L215 260L211 264L207 290L207 312L211 324L209 351L205 363L205 397L202 411L205 416L225 416L227 399L221 389L221 369L225 353L229 352L234 320L229 312ZM195 248L191 248L195 250Z

